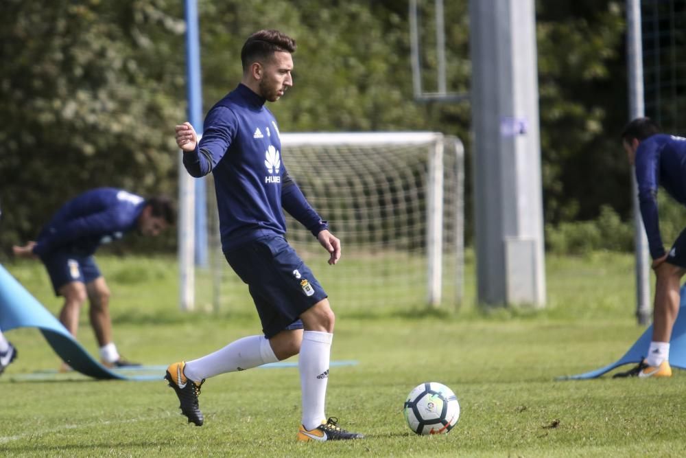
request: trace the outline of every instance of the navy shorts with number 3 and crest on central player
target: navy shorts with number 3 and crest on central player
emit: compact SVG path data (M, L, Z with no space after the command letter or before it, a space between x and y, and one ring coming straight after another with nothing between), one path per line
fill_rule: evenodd
M224 253L248 284L267 339L287 329L303 329L298 317L327 293L283 236L263 236Z

